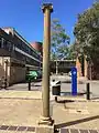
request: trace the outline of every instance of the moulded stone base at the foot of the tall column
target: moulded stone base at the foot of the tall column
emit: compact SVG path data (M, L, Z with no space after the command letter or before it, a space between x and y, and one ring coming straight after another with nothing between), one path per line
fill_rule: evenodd
M42 116L38 121L38 125L53 125L53 124L54 124L54 120L52 120L52 117Z

